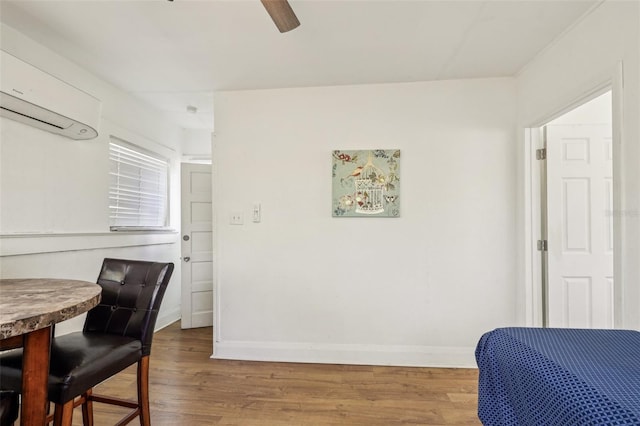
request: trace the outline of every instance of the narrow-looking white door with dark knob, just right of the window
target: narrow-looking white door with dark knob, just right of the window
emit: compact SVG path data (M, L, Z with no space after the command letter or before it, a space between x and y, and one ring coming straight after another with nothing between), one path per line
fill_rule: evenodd
M211 166L182 164L182 328L213 325Z

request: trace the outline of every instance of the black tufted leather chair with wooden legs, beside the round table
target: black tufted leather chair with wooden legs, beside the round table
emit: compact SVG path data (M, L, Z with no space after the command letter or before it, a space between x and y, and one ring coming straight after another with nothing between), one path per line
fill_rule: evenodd
M82 405L85 425L93 424L92 402L133 408L119 424L140 417L149 425L149 355L160 303L173 263L105 259L98 277L100 304L87 313L81 332L53 339L49 401L54 425L71 425L74 407ZM138 364L138 400L95 395L93 387ZM20 390L22 349L0 355L3 388Z

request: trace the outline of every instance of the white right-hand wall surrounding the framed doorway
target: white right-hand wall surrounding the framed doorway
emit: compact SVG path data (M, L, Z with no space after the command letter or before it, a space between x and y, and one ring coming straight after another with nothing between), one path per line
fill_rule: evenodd
M619 66L622 65L621 72ZM618 84L618 76L622 84ZM617 326L640 329L640 3L606 1L542 52L517 79L518 175L525 176L524 128L548 121L613 82L614 213ZM618 91L622 86L622 90ZM616 118L618 121L616 122ZM525 212L525 183L519 182L519 217ZM524 229L524 226L520 226ZM524 235L519 247L524 250ZM519 257L520 259L523 256ZM518 282L528 277L519 268ZM520 288L518 312L527 310ZM524 321L524 314L520 315Z

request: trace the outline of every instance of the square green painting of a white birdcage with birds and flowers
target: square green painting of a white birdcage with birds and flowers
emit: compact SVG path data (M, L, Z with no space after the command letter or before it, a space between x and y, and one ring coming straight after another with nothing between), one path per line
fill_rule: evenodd
M400 150L333 151L333 216L400 216Z

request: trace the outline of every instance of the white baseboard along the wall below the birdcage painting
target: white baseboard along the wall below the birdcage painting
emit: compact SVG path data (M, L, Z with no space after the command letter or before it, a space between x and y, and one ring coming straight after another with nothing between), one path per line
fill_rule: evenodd
M321 364L476 368L474 347L222 341L212 358Z

